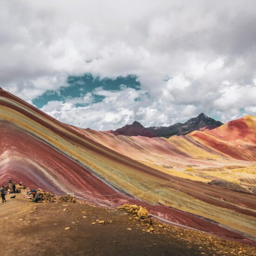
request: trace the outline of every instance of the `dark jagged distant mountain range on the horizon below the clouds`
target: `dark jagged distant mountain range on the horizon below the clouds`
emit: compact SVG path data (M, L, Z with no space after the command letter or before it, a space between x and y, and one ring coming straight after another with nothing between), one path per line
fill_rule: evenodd
M195 130L211 130L221 126L221 121L216 121L213 118L201 113L197 117L193 117L185 123L175 123L171 126L159 126L145 128L138 121L134 121L132 124L125 125L122 128L118 128L115 131L109 130L107 133L114 135L128 135L128 136L145 136L149 138L153 137L165 137L169 138L173 135L186 135Z

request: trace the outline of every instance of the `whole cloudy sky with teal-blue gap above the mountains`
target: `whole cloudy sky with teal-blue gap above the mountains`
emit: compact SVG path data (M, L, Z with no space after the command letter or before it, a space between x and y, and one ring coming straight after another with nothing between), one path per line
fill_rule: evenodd
M1 0L0 87L81 128L256 115L255 0Z

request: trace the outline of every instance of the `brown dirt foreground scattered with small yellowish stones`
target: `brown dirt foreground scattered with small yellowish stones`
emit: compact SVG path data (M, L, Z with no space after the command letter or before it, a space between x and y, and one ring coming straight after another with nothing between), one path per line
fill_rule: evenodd
M1 255L256 255L248 245L170 226L136 210L83 203L28 202L7 195L0 205ZM134 206L133 206L134 207ZM138 207L138 209L140 209ZM134 210L134 212L132 212Z

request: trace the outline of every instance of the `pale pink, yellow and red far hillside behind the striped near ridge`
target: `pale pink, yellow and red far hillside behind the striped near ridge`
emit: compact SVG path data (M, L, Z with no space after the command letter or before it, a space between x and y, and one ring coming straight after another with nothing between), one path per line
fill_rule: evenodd
M254 127L255 117L244 119L249 119L251 127ZM240 135L239 140L233 142L225 140L222 134L218 135L218 131L225 130L226 126L228 124L211 131L195 131L189 135L172 136L169 139L114 136L90 129L74 129L116 152L170 175L202 182L224 179L245 187L254 186L256 185L254 157L256 143L253 141L255 129L249 127L244 135ZM239 130L233 126L235 135L237 129ZM233 130L227 132L231 139L230 134ZM229 148L228 152L227 148ZM243 157L236 153L241 148Z

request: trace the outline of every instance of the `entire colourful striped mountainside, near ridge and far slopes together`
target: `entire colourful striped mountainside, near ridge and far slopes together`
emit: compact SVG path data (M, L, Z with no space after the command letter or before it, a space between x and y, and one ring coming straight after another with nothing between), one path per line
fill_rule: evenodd
M163 221L256 244L255 116L170 138L115 136L61 123L0 89L0 134L1 184L140 204Z

